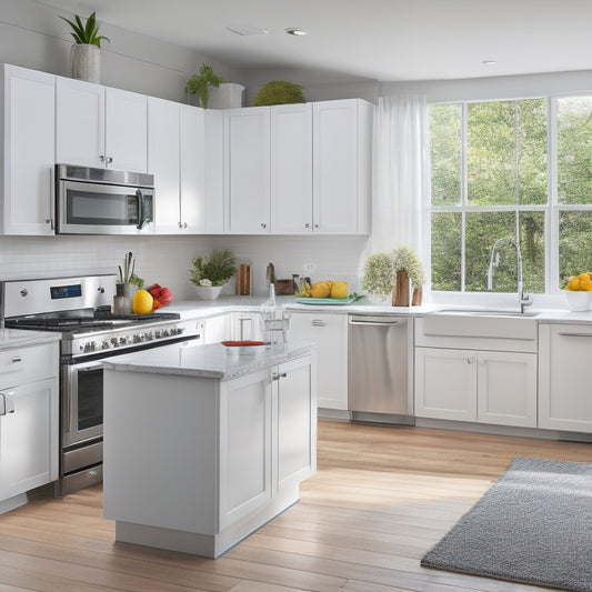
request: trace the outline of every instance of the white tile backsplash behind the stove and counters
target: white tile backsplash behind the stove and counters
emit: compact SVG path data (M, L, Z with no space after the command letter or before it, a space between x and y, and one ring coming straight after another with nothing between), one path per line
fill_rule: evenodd
M254 294L267 293L269 262L278 279L292 273L312 281L339 279L353 291L359 290L367 245L367 237L0 237L0 279L117 273L124 253L132 251L138 275L169 287L175 300L187 300L194 299L188 280L191 260L228 248L238 262L252 264ZM304 263L314 263L315 272L304 273ZM233 282L223 292L233 293Z

